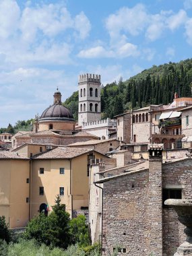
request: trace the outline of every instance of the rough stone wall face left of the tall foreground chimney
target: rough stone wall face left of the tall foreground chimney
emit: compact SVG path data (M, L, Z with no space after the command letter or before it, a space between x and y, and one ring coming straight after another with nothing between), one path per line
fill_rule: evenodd
M148 255L148 171L130 172L103 185L103 255L116 247L122 250L119 255Z

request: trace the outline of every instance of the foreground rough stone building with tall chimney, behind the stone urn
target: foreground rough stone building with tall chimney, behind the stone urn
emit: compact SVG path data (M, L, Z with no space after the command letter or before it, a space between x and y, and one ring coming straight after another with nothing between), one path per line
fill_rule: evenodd
M162 164L162 145L149 151L149 161L107 171L96 181L103 191L103 255L118 248L119 255L171 256L184 240L177 214L164 201L191 198L192 159Z

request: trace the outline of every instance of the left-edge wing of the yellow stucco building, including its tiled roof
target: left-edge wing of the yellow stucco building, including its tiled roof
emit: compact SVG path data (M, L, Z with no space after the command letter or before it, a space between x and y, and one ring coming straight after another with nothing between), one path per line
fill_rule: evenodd
M0 216L9 228L28 223L30 197L30 159L0 151Z

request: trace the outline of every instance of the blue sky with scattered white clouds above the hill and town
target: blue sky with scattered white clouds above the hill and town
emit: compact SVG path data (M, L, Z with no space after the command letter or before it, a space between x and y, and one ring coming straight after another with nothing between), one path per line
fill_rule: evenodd
M77 90L191 58L192 0L0 0L0 127Z

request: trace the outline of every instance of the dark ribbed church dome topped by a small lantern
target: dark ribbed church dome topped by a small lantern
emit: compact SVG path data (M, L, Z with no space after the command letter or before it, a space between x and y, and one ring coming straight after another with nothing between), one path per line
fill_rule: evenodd
M53 97L53 105L44 110L39 121L75 121L71 111L61 104L61 92L58 88Z

